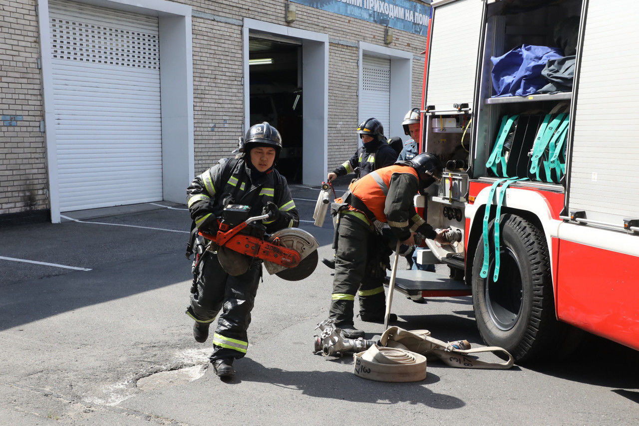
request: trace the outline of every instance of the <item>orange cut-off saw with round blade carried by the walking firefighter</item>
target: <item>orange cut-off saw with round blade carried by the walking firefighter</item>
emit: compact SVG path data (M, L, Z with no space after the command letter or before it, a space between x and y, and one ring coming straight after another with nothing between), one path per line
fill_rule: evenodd
M231 217L231 213L247 215L248 209L248 206L229 205L224 213L228 213L228 217ZM319 243L309 232L299 228L286 228L266 239L240 233L252 222L269 218L268 214L249 217L235 226L222 220L215 236L204 232L199 234L215 243L220 264L229 275L245 273L254 257L264 261L270 275L275 274L284 280L298 281L311 275L318 264ZM233 222L238 221L231 223Z

